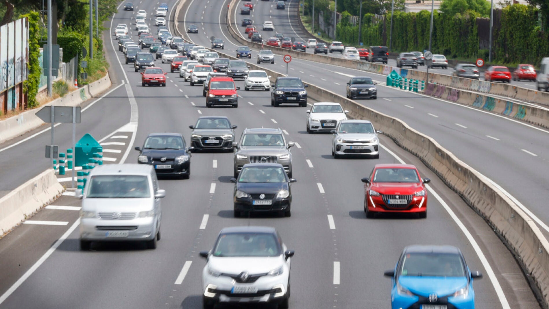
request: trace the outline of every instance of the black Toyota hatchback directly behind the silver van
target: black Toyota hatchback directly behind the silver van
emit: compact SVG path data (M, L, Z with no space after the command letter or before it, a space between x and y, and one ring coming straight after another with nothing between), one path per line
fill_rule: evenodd
M157 175L191 176L191 151L180 133L152 133L139 151L137 162L154 166Z

